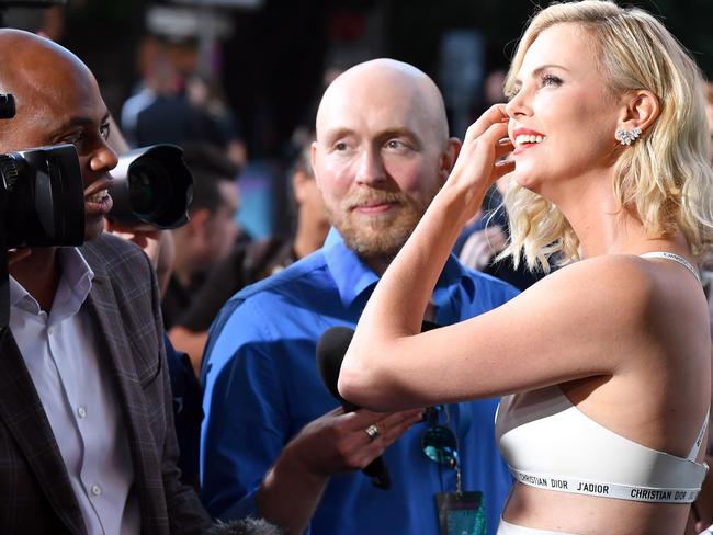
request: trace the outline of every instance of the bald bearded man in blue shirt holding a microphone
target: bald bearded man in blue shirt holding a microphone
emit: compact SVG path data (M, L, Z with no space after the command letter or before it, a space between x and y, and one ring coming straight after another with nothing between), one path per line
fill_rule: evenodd
M444 446L439 437L457 436L463 490L483 492L494 533L511 481L495 446L495 400L432 409L426 422L421 410L344 413L315 364L324 331L355 325L459 148L449 138L439 90L409 65L361 64L327 89L312 147L332 224L327 242L236 294L211 331L201 443L203 499L211 513L257 514L291 534L437 534L437 494L454 497L456 469L425 455L428 432L425 445L430 441L437 449ZM426 319L452 323L514 293L452 258ZM359 471L380 455L391 490ZM477 500L471 505L452 514L467 517L467 533L482 533L474 530L484 511Z

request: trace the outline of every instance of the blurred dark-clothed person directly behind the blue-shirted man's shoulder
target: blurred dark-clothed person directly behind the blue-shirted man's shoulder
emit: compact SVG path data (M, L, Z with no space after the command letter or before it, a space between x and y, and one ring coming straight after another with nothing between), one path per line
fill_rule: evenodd
M327 213L309 162L313 137L299 147L290 174L294 228L290 237L270 237L238 243L211 271L188 309L173 322L169 335L185 351L199 375L208 328L220 307L239 289L285 269L319 249L329 230Z

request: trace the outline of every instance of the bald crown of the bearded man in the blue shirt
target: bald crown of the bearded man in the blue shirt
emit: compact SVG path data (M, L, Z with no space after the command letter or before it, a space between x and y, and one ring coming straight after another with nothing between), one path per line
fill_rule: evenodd
M448 140L445 106L433 80L412 65L388 58L359 64L335 79L319 103L317 138L341 107L362 102L375 110L392 107L412 114L430 143L442 147Z

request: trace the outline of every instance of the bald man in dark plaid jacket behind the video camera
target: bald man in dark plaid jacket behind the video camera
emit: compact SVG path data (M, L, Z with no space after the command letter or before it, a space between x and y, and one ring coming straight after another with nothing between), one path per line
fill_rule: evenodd
M11 257L0 533L200 533L210 520L176 467L155 275L140 249L102 235L116 155L97 81L65 48L14 30L0 30L0 66L18 109L0 122L0 152L73 144L88 240Z

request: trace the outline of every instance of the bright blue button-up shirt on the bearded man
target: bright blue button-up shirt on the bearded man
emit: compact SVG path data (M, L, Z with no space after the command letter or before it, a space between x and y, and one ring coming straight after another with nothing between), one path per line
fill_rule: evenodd
M317 340L330 327L354 327L377 280L332 230L322 249L225 305L211 329L202 373L201 477L203 501L213 515L257 515L256 491L285 444L339 405L317 372ZM452 257L433 293L435 321L464 320L516 293ZM463 489L484 493L489 533L497 528L512 482L495 441L497 401L449 406ZM438 534L435 493L455 490L455 473L423 454L427 426L414 425L384 452L389 490L373 487L362 473L333 476L310 532Z

